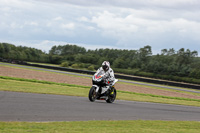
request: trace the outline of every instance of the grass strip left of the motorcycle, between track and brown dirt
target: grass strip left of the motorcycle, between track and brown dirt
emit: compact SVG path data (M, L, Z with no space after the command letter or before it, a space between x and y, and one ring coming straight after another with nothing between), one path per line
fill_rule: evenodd
M88 94L89 87L22 78L4 77L2 79L0 77L0 90L84 97Z

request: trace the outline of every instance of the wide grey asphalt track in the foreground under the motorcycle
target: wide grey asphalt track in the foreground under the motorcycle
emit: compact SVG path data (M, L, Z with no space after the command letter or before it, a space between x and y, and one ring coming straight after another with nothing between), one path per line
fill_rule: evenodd
M200 121L200 107L0 91L0 121Z

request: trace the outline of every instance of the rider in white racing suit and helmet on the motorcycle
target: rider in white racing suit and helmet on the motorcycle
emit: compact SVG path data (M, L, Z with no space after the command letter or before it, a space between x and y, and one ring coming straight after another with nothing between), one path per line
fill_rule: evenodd
M110 67L110 63L108 61L104 61L102 63L102 66L97 70L96 74L100 71L103 71L105 73L105 84L106 86L109 86L108 89L111 89L112 83L115 81L114 71ZM101 90L100 90L101 91Z

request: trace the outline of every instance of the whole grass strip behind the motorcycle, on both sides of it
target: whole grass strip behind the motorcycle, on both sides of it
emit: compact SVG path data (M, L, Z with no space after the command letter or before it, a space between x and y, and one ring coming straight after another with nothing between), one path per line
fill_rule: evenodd
M90 87L0 76L0 90L87 97ZM168 97L117 90L117 99L200 106L200 99Z

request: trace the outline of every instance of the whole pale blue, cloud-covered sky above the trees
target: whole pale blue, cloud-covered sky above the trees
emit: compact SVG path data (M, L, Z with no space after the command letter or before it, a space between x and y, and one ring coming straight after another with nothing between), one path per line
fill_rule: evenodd
M0 0L0 42L200 55L200 0Z

